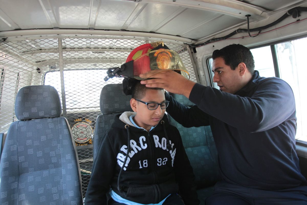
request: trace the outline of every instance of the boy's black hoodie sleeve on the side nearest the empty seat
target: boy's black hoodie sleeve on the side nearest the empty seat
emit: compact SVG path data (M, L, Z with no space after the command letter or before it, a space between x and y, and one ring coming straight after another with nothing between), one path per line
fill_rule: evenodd
M113 179L116 163L115 159L114 149L106 133L103 136L98 156L93 164L91 179L85 196L85 205L107 205L106 194L110 190L110 183Z

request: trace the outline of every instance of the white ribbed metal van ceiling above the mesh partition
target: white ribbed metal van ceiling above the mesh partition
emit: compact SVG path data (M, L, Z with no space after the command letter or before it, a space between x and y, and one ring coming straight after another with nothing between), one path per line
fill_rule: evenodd
M139 2L133 2L139 1ZM306 0L0 0L0 33L33 29L134 31L202 41L266 21ZM281 11L282 10L282 11ZM269 23L269 22L268 22ZM3 35L2 35L3 36Z

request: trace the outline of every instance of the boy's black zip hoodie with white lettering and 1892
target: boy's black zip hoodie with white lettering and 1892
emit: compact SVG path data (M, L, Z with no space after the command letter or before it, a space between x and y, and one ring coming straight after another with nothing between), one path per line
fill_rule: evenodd
M186 205L199 204L195 176L181 136L167 116L150 132L131 126L128 120L124 123L119 117L115 117L101 140L85 204L107 204L110 186L122 198L137 203L159 203L169 194L180 193ZM129 149L128 139L131 151L121 170Z

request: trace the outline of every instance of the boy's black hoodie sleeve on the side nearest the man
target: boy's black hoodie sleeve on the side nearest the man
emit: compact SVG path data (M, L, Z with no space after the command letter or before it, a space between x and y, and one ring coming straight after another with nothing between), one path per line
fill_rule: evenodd
M179 186L179 193L185 205L197 205L200 201L197 198L195 175L177 128L174 132L177 133L179 145L174 160L175 178Z

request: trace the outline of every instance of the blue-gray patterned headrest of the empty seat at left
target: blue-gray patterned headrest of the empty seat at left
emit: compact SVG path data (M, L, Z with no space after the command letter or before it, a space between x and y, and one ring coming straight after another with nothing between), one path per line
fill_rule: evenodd
M17 93L15 114L18 120L60 117L61 113L59 93L50 85L30 85Z

